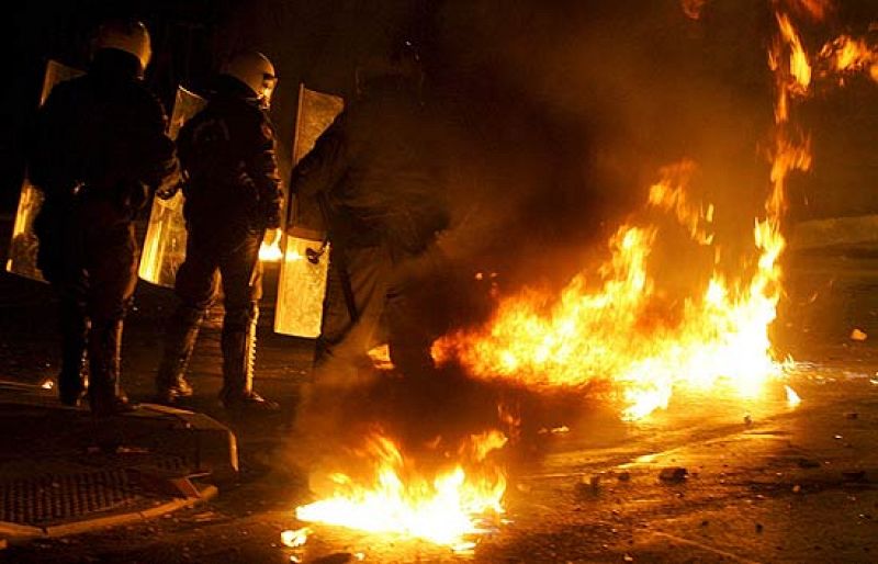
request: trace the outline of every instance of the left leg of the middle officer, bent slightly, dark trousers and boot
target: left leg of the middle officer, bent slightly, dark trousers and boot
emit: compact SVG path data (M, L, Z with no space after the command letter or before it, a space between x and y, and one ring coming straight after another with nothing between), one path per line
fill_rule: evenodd
M194 235L194 234L191 234ZM199 329L216 291L215 252L198 235L187 241L185 260L177 272L179 303L165 328L165 352L156 374L158 401L173 403L192 395L185 371L195 349Z

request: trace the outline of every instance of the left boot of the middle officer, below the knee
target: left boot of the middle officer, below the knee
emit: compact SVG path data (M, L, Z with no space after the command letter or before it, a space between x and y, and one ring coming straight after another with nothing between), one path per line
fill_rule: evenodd
M203 319L203 311L181 305L168 322L165 354L156 374L156 399L159 403L173 404L192 395L192 386L184 376Z

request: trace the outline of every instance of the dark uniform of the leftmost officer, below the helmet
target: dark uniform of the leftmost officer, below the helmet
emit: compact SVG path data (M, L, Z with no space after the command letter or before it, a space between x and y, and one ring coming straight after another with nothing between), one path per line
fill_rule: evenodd
M89 74L55 87L41 109L29 163L45 194L37 266L60 294L60 398L78 403L88 349L100 414L125 404L120 347L139 253L132 219L148 187L179 179L165 112L140 72L134 55L99 50Z

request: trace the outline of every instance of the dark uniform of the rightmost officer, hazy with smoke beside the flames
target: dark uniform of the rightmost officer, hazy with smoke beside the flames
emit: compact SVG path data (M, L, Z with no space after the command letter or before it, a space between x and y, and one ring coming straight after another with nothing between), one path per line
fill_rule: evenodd
M448 223L429 124L416 84L375 78L293 171L300 221L319 229L325 217L331 242L317 381L356 376L384 338L403 373L431 366L426 327L408 307L409 267Z

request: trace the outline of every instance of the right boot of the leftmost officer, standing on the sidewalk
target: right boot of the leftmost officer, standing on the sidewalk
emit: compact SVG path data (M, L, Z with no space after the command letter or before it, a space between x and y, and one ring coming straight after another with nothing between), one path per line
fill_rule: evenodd
M106 417L133 410L134 406L119 383L122 370L122 319L93 320L89 337L91 372L88 395L91 413Z

